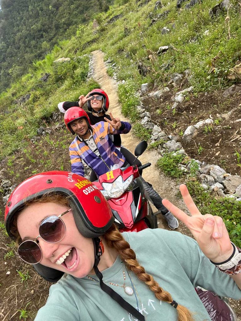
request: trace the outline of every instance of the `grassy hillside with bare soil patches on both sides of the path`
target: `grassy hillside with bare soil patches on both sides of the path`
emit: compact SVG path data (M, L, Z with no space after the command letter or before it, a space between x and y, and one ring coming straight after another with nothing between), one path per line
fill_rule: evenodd
M89 54L95 49L102 49L106 60L109 58L112 61L108 64L108 73L115 74L120 81L122 112L130 118L139 137L150 138L150 132L140 125L136 108L140 103L137 91L141 84L148 82L150 90L165 86L171 88L168 84L170 75L174 72L184 74L187 69L185 82L180 87L171 88L163 100L149 97L143 100L153 121L166 133L181 138L189 124L212 114L213 126L207 127L207 132L201 134L205 134L206 138L213 135L214 143L219 141L216 129L224 133L227 127L233 135L236 127L232 128L231 122L227 124L216 114L241 105L240 96L222 97L225 88L240 82L240 78L228 77L237 60L241 60L240 5L231 0L228 11L222 9L217 17L211 17L209 10L218 4L216 0L203 0L189 9L185 9L187 2L179 9L176 1L163 0L163 6L157 10L155 4L156 0L115 0L106 13L93 17L98 25L95 23L93 27L93 21L79 25L75 36L60 41L43 60L31 65L28 74L0 95L0 161L4 179L18 184L41 171L70 169L68 145L72 136L67 130L60 126L51 135L34 136L40 126L55 127L62 121L61 117L52 117L58 111L58 102L77 100L80 94L99 86L87 77ZM164 27L170 30L166 34L163 33ZM169 49L159 55L157 51L161 46L168 46ZM54 62L61 57L70 60ZM138 66L142 68L141 73ZM46 81L41 80L43 76L46 76ZM174 93L187 86L193 86L194 90L185 97L181 106L183 109L171 109ZM239 114L240 109L237 108L236 116L239 117ZM240 128L238 123L236 126ZM161 143L154 143L151 147ZM205 160L210 150L209 142L206 143L205 146L203 143L194 146L197 155ZM227 154L233 155L235 148L238 149L236 155L239 155L240 169L241 149L240 153L238 151L241 146L237 140L235 143ZM220 166L228 167L230 159L231 156L220 160ZM167 154L159 165L166 175L171 172L170 176L184 180L183 172L177 168L183 160L182 155L174 158L172 154ZM195 173L195 166L191 170ZM232 240L241 246L241 202L213 197L192 180L188 181L188 186L201 212L222 215ZM3 192L2 186L1 199ZM1 313L3 316L8 313L12 321L33 320L47 299L49 283L17 260L16 245L4 230L4 204L1 201L0 204L0 257L4 258L0 264L0 293L4 298L0 303ZM18 266L17 271L15 266ZM10 272L7 276L6 271ZM9 287L9 284L12 285ZM241 312L237 312L241 317Z

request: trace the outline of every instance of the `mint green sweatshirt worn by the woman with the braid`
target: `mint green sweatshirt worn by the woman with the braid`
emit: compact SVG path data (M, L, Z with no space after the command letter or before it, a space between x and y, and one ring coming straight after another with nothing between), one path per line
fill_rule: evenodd
M218 295L241 299L241 290L227 274L221 273L204 256L195 240L174 231L162 229L124 232L122 234L136 252L140 265L151 274L159 285L168 291L179 304L194 313L196 321L210 320L195 287L201 286ZM134 287L136 295L128 295L123 287L123 270L126 286ZM118 292L147 321L175 321L177 311L170 304L156 299L148 286L132 272L127 273L118 257L104 270L103 281ZM92 277L98 280L96 275ZM131 284L134 286L132 286ZM117 302L103 292L98 282L87 277L63 277L49 290L49 298L40 308L35 321L136 321Z

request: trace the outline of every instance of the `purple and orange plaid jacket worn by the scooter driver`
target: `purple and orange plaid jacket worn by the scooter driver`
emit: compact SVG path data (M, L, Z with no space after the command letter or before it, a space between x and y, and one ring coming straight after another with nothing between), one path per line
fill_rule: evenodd
M94 170L98 177L110 171L111 166L114 164L118 164L120 167L123 166L125 158L112 143L109 136L109 134L129 133L131 125L123 121L121 124L125 126L125 129L122 131L114 130L109 123L103 121L91 126L93 138L101 157L92 152L92 150L76 136L69 146L71 171L84 176L84 165L82 164L82 160Z

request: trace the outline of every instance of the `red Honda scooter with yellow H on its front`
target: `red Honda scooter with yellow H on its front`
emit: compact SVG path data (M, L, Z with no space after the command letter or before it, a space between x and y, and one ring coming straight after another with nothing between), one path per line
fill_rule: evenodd
M140 156L146 148L147 142L140 142L135 149L135 156ZM93 182L107 199L121 232L157 228L156 216L139 178L139 172L150 165L147 163L139 167L133 165L125 169L113 169Z

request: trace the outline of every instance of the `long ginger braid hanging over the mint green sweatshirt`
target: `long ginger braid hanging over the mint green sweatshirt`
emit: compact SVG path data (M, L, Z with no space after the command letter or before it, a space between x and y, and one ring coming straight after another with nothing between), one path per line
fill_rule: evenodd
M154 280L153 276L146 273L143 266L139 265L136 253L130 248L129 243L123 238L115 224L103 235L105 242L111 248L115 248L121 260L125 262L128 270L137 275L139 280L145 282L158 300L172 303L173 299L169 292L163 290ZM184 306L177 306L178 321L194 321L192 313Z

